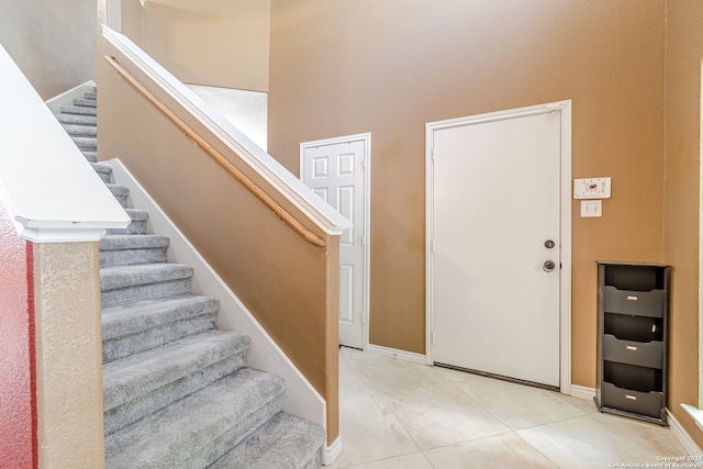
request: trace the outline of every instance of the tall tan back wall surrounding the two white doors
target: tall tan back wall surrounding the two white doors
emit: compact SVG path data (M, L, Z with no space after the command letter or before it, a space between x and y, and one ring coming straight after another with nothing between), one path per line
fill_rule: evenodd
M665 3L271 1L269 153L371 132L370 342L425 351L424 125L573 100L572 382L595 386L595 260L662 260Z

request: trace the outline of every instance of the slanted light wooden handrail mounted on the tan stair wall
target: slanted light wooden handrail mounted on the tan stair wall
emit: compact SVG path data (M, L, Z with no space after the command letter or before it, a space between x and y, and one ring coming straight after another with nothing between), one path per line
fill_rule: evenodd
M261 202L278 215L288 226L293 228L295 233L302 236L309 243L315 246L324 247L325 241L317 234L308 230L302 223L300 223L293 215L291 215L286 209L278 204L270 198L261 188L256 186L254 181L247 178L242 171L239 171L232 163L230 163L224 156L220 154L212 145L210 145L203 137L201 137L190 125L183 122L178 115L176 115L170 109L168 109L161 101L158 100L149 90L147 90L136 78L130 75L114 57L103 56L105 62L114 68L122 78L124 78L134 89L136 89L144 98L146 98L152 104L154 104L164 115L170 119L181 131L193 139L202 149L205 150L212 159L214 159L220 166L222 166L230 175L239 181L245 188L256 196Z

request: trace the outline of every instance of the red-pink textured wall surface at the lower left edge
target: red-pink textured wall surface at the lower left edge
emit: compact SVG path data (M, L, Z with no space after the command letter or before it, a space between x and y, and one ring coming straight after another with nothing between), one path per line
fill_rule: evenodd
M35 468L32 245L0 203L0 468Z

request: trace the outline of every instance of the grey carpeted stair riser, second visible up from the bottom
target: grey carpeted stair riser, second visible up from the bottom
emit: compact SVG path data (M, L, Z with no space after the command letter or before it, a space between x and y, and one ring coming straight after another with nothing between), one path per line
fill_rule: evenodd
M105 436L246 367L246 350L104 413Z

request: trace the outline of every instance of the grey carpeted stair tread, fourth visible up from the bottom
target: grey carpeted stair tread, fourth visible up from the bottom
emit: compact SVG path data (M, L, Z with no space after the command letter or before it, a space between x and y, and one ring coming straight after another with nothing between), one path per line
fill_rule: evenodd
M217 311L217 300L183 295L144 301L102 310L102 340L110 340L159 325L188 320Z

